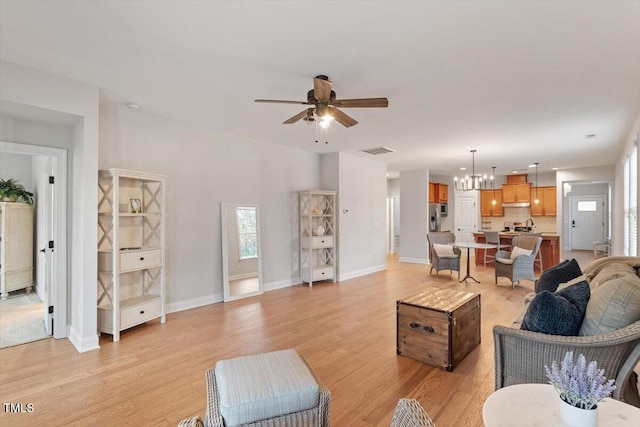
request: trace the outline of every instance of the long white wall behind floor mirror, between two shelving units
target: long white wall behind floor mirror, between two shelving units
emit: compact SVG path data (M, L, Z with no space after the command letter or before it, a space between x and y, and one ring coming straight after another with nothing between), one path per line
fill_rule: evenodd
M265 290L299 283L297 192L319 186L317 154L101 106L99 164L169 176L169 312L222 301L221 202L260 205Z

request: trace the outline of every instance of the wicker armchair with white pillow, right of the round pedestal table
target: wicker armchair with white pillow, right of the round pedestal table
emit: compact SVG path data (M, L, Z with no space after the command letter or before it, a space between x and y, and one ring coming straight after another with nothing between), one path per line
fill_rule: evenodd
M515 282L520 282L522 279L536 281L536 275L533 271L533 264L536 261L536 256L540 250L540 244L542 243L542 237L535 236L516 236L513 238L513 247L516 246L522 249L528 249L531 251L531 255L517 256L513 263L504 263L503 260L511 261L511 252L499 251L496 253L496 285L498 284L498 277L507 277L511 280L511 287L515 286ZM513 250L513 249L512 249Z

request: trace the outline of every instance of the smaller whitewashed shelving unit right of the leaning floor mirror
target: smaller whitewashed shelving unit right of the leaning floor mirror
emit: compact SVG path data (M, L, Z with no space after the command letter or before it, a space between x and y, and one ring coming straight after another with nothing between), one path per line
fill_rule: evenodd
M300 191L300 278L313 286L336 281L336 194L328 190Z

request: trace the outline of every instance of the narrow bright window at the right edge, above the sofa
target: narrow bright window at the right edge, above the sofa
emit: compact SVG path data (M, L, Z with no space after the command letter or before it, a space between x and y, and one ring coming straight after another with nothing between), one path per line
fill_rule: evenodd
M638 147L624 161L624 255L638 255Z

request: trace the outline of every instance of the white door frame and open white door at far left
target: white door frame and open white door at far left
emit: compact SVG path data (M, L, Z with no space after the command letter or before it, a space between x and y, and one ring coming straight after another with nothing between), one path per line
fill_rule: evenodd
M41 301L38 317L45 336L64 338L67 336L67 151L0 141L0 154L31 160L33 190L30 191L36 198L33 281L34 294Z

